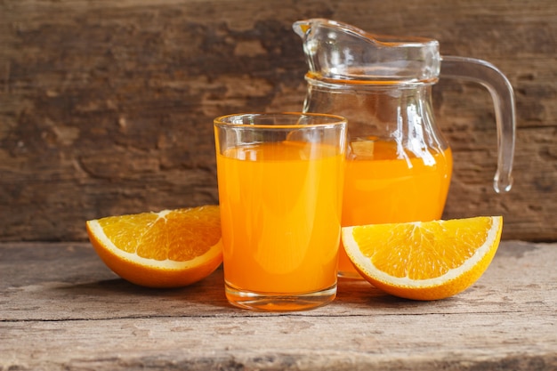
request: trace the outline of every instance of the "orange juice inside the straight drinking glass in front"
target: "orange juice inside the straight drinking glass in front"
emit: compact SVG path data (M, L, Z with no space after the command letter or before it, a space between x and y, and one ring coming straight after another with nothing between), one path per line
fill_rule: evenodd
M343 155L283 141L217 154L224 278L262 293L336 283Z

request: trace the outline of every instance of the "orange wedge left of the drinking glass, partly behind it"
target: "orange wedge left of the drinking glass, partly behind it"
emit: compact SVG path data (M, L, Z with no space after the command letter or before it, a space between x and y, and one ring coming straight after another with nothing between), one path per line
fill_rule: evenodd
M102 261L137 285L187 286L222 262L219 206L109 216L86 228Z

